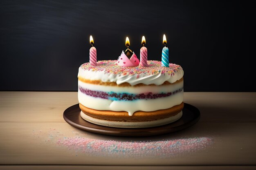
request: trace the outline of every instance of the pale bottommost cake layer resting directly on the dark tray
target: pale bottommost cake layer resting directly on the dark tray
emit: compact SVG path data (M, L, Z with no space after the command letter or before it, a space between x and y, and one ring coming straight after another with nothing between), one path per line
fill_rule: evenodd
M175 116L168 117L165 119L154 120L154 121L137 121L137 122L108 121L103 119L97 119L97 118L85 115L82 111L80 115L86 121L89 121L93 124L98 124L101 126L110 126L110 127L116 127L116 128L149 128L149 127L169 124L171 122L174 122L180 119L182 117L182 111Z

